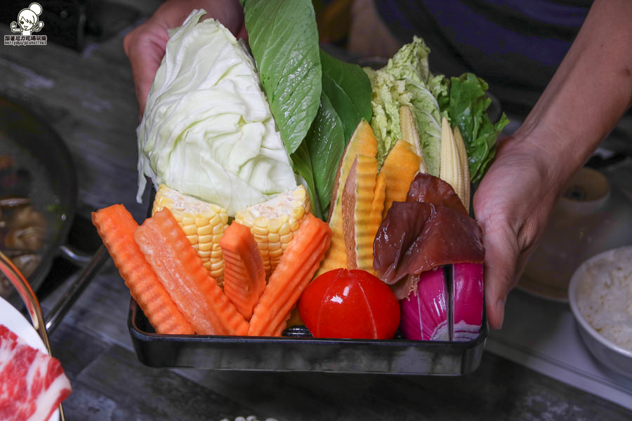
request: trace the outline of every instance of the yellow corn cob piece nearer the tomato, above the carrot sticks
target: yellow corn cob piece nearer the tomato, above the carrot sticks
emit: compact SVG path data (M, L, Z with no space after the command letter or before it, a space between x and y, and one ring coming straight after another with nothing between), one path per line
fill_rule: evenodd
M301 220L310 211L310 198L302 185L237 211L235 222L250 227L263 259L266 276L270 276L277 267Z

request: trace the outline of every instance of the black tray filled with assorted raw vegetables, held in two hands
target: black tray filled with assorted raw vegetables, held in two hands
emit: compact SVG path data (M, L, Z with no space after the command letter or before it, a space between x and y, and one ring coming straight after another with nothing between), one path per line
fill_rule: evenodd
M244 0L170 32L138 127L147 219L93 223L150 366L461 375L487 326L471 187L508 122L487 84L320 50L310 1Z

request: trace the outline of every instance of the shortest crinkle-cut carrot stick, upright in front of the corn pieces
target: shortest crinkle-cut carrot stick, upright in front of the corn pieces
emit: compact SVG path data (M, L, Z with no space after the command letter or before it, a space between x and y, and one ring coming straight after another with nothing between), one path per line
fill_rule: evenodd
M265 268L250 228L232 222L219 241L224 256L224 293L246 320L265 288Z

